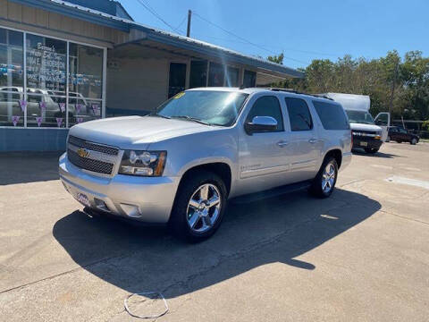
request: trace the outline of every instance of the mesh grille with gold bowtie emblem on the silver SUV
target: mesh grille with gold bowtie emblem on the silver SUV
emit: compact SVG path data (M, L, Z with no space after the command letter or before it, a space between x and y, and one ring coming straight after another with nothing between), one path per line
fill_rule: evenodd
M71 164L97 174L112 175L118 162L119 148L69 137L67 156Z

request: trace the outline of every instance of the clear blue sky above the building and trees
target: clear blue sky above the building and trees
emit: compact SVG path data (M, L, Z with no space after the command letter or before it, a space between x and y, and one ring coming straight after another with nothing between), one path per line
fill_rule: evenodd
M135 21L181 35L190 9L191 38L264 58L283 52L283 64L293 68L347 54L378 58L393 49L429 55L429 0L119 1Z

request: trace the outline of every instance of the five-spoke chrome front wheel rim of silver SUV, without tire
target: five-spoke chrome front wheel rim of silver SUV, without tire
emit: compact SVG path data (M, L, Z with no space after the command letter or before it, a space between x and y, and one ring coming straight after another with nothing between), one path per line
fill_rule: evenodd
M189 228L197 233L210 230L219 218L221 202L221 193L214 184L199 186L188 203L186 219Z

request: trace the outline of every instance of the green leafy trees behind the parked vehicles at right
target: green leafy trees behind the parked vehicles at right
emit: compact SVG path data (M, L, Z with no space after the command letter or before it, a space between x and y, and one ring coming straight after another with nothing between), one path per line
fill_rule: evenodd
M283 54L268 60L282 64ZM396 50L378 59L344 55L336 62L315 59L301 72L303 79L273 84L309 93L350 93L369 95L371 113L391 111L393 118L429 119L429 58L420 51L400 57Z

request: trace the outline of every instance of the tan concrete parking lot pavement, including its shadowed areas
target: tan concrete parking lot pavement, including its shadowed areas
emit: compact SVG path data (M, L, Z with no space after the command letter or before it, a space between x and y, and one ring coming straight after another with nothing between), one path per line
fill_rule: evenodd
M427 321L429 144L354 155L331 199L299 191L231 204L207 242L89 217L57 155L0 155L0 320ZM158 302L133 304L154 313Z

